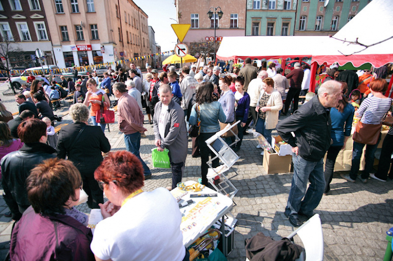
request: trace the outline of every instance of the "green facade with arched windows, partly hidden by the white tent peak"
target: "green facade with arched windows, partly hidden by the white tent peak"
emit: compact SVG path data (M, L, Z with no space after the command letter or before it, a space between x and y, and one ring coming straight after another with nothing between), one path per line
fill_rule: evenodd
M295 35L334 35L369 0L299 0Z

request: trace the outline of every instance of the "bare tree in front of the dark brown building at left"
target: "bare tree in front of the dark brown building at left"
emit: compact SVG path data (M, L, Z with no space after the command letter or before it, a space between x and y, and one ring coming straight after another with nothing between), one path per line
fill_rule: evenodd
M11 89L15 92L15 86L11 82L10 76L10 58L11 57L21 57L22 49L19 47L17 43L14 42L13 38L10 36L0 36L0 56L4 57L6 60L6 64L1 63L0 68L7 71L7 77L10 81Z

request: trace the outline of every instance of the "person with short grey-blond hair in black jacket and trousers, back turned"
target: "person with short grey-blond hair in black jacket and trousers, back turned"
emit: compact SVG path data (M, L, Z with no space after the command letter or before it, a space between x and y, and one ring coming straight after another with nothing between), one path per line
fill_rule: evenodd
M102 162L102 152L110 150L110 143L99 126L89 126L89 108L81 103L70 107L74 123L61 128L57 140L57 156L71 160L81 172L83 189L89 196L89 208L100 208L103 192L94 179L94 171Z

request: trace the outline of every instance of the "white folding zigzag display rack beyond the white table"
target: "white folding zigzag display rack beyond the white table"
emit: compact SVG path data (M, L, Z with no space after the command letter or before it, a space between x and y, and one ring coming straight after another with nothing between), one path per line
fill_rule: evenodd
M240 158L231 148L231 146L235 145L240 139L235 132L233 132L232 128L235 127L240 121L237 121L234 124L228 124L223 130L218 131L215 135L206 140L206 144L208 147L216 154L211 160L207 163L209 165L208 169L208 181L213 186L213 188L220 192L223 195L228 195L231 199L236 195L238 189L228 180L228 178L224 175L226 171L232 169L236 175L237 172L232 168L232 166L236 163L236 161ZM227 144L225 142L225 138L221 137L221 135L231 132L235 141L231 144ZM213 160L219 158L222 162L222 165L218 167L213 167ZM215 184L215 178L219 177L220 182Z

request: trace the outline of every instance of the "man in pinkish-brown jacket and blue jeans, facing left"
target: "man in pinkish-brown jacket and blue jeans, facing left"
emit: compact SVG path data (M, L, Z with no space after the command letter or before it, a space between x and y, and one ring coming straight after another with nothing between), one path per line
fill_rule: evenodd
M112 88L113 94L119 99L117 102L117 125L119 130L124 133L125 148L141 160L145 180L150 179L152 172L139 154L141 133L147 131L143 127L143 113L137 100L127 94L124 83L117 82L113 84Z

